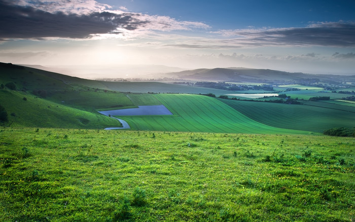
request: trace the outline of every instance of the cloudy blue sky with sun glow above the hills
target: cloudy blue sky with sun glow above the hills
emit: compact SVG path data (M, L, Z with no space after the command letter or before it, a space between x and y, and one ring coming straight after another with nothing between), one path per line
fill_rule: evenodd
M0 0L0 62L355 75L354 0Z

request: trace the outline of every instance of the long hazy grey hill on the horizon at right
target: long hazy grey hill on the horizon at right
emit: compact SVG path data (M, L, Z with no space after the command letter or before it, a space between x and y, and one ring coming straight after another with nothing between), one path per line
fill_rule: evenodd
M166 77L191 81L223 81L223 82L294 82L310 79L327 81L355 81L355 76L317 75L302 72L286 72L271 69L253 69L242 67L200 68L180 72L170 72Z

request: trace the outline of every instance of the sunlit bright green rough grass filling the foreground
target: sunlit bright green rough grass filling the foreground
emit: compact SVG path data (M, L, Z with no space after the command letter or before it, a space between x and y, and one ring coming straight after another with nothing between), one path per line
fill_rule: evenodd
M355 219L354 138L43 128L0 135L1 221Z

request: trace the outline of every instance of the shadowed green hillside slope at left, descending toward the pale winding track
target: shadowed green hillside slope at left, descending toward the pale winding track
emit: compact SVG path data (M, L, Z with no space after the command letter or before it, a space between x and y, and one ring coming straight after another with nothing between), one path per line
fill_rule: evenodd
M118 124L117 120L96 112L86 112L13 90L0 90L0 104L6 109L9 119L2 125L11 127L103 129Z

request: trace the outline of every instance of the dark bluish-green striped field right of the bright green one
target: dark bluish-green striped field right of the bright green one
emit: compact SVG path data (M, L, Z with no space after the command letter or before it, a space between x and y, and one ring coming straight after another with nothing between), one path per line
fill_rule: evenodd
M335 127L354 127L352 107L326 102L309 105L220 99L245 116L278 128L323 132ZM307 102L308 103L308 102Z

